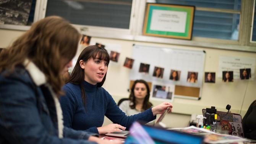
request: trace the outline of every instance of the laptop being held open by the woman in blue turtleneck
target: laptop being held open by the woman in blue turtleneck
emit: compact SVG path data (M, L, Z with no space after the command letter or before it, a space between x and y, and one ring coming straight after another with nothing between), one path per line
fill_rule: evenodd
M159 123L164 119L168 110L169 110L169 107L160 115L160 117L158 118L158 120L155 123L155 126L159 126ZM113 132L113 133L107 133L105 135L106 136L113 136L113 137L117 137L117 138L126 138L129 135L129 131Z

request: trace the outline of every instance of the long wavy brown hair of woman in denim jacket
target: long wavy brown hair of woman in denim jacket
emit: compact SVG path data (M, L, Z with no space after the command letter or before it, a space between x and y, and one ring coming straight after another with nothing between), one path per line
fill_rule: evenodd
M0 57L0 72L11 73L15 66L31 60L46 76L57 95L63 94L62 70L72 60L81 34L68 21L49 16L32 24ZM65 65L61 61L65 60Z

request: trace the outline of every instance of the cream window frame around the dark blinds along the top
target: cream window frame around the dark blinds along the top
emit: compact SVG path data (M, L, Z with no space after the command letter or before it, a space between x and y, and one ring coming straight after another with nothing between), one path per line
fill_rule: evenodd
M99 0L100 1L100 0ZM163 37L153 37L143 35L144 15L147 0L133 0L129 29L107 28L99 26L87 26L73 24L82 34L92 37L107 39L134 40L140 42L153 42L161 44L186 45L191 47L205 47L213 49L236 50L245 52L256 52L256 42L251 41L253 11L255 0L241 0L241 11L224 10L216 8L196 7L196 10L207 10L214 12L240 13L240 28L238 40L224 40L206 37L192 37L192 40L181 40ZM45 17L47 0L37 0L34 21ZM250 15L250 16L248 16ZM27 31L30 26L18 26L12 24L0 24L0 29L11 29Z

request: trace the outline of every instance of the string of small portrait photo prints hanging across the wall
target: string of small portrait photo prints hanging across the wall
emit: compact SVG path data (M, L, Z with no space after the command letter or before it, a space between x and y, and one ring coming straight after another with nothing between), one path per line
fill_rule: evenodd
M89 46L91 37L83 35L80 44ZM96 43L98 47L105 48L105 45ZM110 51L110 60L113 62L118 62L120 53L115 51ZM124 67L132 69L133 68L134 59L127 58L125 59ZM149 73L149 64L141 63L139 67L139 73ZM172 81L180 80L181 71L179 70L171 70L169 79ZM153 77L163 78L164 68L160 68L155 66L153 71ZM240 79L250 79L251 78L251 68L243 68L240 69ZM188 71L187 82L188 83L197 83L198 72ZM215 73L213 72L205 72L204 74L204 82L205 83L215 83ZM222 71L222 82L233 82L233 71Z

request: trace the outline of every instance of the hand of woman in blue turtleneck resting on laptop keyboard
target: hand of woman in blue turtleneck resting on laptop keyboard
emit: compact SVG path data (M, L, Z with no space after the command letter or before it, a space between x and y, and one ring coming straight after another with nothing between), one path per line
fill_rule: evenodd
M106 133L113 133L115 131L123 131L126 128L121 126L121 125L112 123L112 124L109 124L109 125L106 125L106 126L99 127L97 129L99 131L99 134L106 134Z

